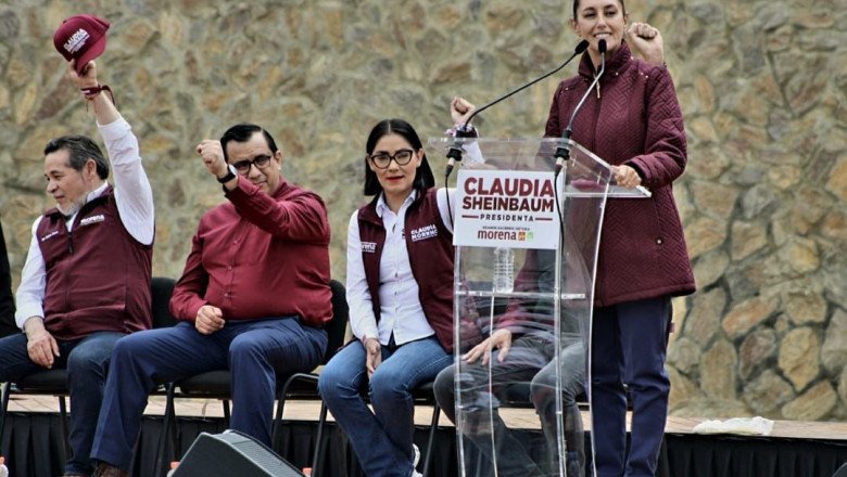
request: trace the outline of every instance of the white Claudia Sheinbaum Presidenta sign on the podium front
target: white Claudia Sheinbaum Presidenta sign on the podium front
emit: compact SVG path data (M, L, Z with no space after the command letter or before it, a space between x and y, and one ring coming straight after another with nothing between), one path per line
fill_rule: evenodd
M463 168L455 217L453 245L556 249L558 242L556 190L548 172Z

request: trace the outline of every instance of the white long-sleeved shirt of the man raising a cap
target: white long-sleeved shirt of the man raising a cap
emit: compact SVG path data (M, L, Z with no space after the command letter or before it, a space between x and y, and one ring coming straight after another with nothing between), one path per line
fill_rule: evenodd
M121 222L135 240L144 245L153 243L155 233L153 217L153 191L141 164L138 139L132 128L123 117L108 124L98 125L105 142L109 160L112 165L115 182L115 202L121 214ZM108 183L88 193L86 202L102 194ZM42 217L42 216L41 216ZM21 273L21 286L17 287L17 311L15 322L23 330L24 323L31 317L43 318L43 300L47 286L47 270L41 248L38 246L36 231L41 222L38 217L33 223L33 237L26 255L24 270ZM74 224L76 212L65 221L67 230Z

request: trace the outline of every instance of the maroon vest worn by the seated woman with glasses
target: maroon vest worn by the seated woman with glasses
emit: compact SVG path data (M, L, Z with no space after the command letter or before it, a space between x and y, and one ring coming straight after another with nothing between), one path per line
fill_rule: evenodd
M439 214L438 190L432 188L419 192L418 198L406 210L403 236L408 249L412 275L418 284L418 298L423 308L435 337L447 352L454 348L453 341L453 234L444 227ZM385 245L385 228L377 215L377 199L358 210L358 233L362 241L362 259L365 265L365 278L374 305L374 315L379 322L379 262ZM462 336L464 349L479 343L480 332L476 315L468 310L463 322Z

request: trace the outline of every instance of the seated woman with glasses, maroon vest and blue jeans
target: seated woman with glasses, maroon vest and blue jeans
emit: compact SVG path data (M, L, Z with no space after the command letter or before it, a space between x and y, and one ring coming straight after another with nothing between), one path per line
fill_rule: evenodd
M412 390L453 362L453 228L415 129L377 124L365 195L347 230L347 302L356 339L320 373L320 395L368 476L420 475ZM452 191L450 192L452 194ZM362 391L367 389L374 411Z

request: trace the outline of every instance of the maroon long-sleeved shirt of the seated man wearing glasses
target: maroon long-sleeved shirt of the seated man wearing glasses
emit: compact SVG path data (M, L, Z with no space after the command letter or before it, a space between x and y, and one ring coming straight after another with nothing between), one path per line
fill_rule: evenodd
M212 305L225 320L300 317L321 326L332 318L329 221L317 194L282 181L273 195L239 177L230 203L198 225L170 312L194 321Z

